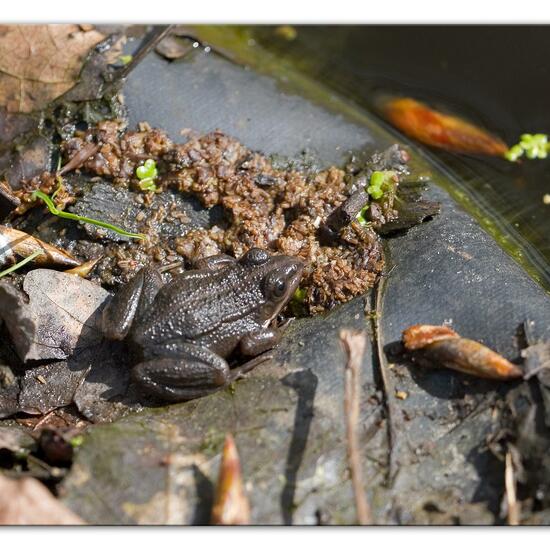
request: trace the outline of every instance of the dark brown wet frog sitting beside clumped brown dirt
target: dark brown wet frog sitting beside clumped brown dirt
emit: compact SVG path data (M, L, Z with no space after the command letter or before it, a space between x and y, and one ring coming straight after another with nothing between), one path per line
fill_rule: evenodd
M152 265L114 294L101 316L106 338L124 340L140 393L178 402L228 387L249 372L251 359L230 368L237 349L265 355L285 326L276 319L298 288L302 260L251 248L239 259L218 254L164 283Z

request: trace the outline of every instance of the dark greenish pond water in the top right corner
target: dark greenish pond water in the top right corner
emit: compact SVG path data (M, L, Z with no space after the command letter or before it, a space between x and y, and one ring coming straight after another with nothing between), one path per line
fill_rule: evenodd
M246 33L283 63L376 113L387 94L413 97L501 137L550 132L550 29L544 26L297 26ZM250 40L249 40L250 42ZM253 44L254 42L250 42ZM550 158L505 160L428 149L485 227L550 289Z

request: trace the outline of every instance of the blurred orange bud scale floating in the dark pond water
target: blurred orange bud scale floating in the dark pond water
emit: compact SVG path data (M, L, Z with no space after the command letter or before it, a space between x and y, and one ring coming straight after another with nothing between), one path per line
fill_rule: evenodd
M382 111L396 128L426 145L457 153L492 156L502 156L508 150L501 139L485 130L411 98L385 101Z

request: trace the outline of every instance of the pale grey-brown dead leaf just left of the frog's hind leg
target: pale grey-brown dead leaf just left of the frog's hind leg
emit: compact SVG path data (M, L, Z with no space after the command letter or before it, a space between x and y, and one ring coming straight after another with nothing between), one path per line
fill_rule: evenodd
M24 293L0 283L0 316L23 362L67 359L102 340L98 308L109 296L99 285L50 269L30 271Z

